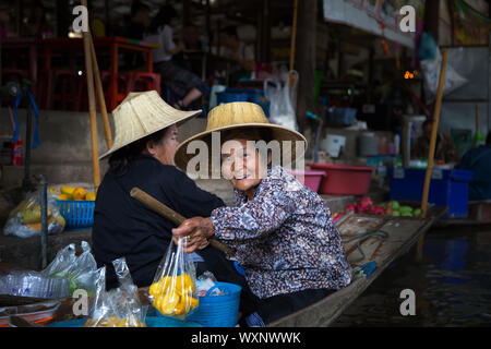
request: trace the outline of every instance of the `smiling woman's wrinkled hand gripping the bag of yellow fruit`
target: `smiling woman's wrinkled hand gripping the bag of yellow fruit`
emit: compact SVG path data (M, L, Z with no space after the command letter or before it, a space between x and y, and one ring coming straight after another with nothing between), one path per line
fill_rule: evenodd
M214 228L209 218L193 217L185 219L178 228L172 229L172 239L177 244L179 238L188 237L188 243L183 248L184 253L193 253L203 250L209 244L214 234Z

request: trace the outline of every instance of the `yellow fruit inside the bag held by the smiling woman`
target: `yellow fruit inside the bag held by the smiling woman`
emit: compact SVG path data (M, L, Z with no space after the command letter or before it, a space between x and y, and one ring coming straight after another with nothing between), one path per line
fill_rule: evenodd
M148 293L153 297L153 305L163 315L182 316L197 308L199 301L193 297L195 286L185 273L178 276L164 276L152 284Z

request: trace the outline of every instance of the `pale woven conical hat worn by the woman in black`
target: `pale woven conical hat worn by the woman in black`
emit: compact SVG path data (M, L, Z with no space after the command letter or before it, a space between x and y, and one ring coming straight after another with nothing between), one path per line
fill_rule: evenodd
M115 142L99 160L135 141L172 124L180 124L200 113L201 110L181 111L172 108L156 91L132 92L112 110Z

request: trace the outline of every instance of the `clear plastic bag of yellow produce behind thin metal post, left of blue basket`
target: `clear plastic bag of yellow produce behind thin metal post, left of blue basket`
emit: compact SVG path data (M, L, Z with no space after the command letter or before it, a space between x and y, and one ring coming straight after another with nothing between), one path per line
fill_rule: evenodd
M48 234L63 231L65 220L61 216L55 197L48 192ZM39 236L41 231L40 192L29 194L9 215L3 233L19 238Z

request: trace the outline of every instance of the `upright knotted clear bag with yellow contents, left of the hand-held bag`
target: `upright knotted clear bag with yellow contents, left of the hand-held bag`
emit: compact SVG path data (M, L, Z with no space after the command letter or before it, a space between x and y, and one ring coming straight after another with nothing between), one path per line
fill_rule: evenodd
M106 268L97 273L97 292L85 327L146 327L142 304L124 257L112 261L120 286L106 292Z

